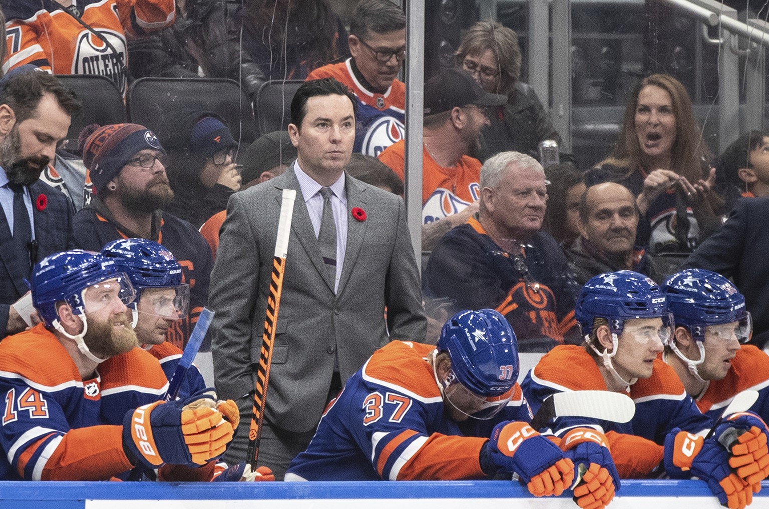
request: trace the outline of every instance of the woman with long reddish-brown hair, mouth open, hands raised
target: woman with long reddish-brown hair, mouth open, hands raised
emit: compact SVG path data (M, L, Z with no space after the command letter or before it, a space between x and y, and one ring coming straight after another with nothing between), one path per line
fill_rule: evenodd
M644 78L625 108L611 155L585 175L588 187L618 182L637 197L636 244L657 254L692 251L721 224L723 200L691 99L669 75Z

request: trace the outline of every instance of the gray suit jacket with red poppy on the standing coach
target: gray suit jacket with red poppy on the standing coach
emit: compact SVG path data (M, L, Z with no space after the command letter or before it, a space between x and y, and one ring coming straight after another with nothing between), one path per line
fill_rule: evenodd
M216 311L209 333L220 398L242 404L254 391L284 188L295 189L297 198L265 416L288 431L311 431L321 418L335 354L346 381L391 339L423 341L427 324L401 198L347 175L348 211L359 207L367 217L348 217L345 262L334 294L289 168L235 193L228 203L208 301Z

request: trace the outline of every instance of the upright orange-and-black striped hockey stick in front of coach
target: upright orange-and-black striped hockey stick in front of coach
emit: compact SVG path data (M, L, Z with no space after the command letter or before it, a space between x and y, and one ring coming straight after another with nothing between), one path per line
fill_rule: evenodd
M261 441L261 424L265 420L265 409L267 408L267 386L270 381L272 347L275 344L275 325L278 323L278 310L281 306L283 273L286 266L288 237L291 233L291 217L294 215L295 199L295 190L283 190L281 215L278 219L278 237L275 239L275 258L272 260L272 278L270 281L270 295L267 299L265 330L261 334L261 352L259 354L259 366L256 370L254 411L251 414L251 428L248 430L246 462L251 464L252 471L256 470L256 461L259 457L259 441Z

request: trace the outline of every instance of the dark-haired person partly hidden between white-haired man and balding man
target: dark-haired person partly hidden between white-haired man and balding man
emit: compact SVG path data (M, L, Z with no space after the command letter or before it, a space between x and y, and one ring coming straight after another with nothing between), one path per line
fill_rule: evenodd
M544 175L550 184L542 231L566 249L579 237L579 202L587 189L584 172L572 165L550 165L544 168Z

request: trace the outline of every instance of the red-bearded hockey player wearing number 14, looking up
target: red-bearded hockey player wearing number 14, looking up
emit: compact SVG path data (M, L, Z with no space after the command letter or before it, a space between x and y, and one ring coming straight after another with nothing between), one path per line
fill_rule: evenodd
M137 346L134 289L91 251L32 271L43 323L0 343L0 479L107 480L138 466L161 479L206 480L238 426L232 401L164 403L168 381Z

